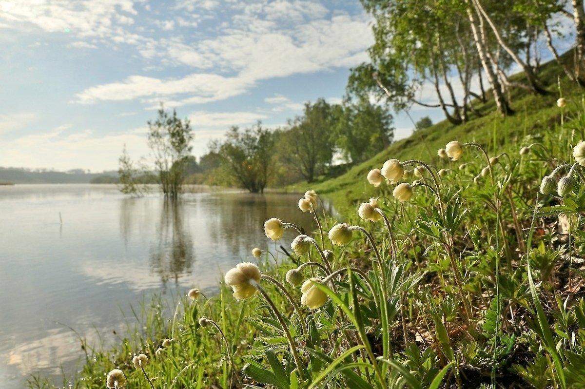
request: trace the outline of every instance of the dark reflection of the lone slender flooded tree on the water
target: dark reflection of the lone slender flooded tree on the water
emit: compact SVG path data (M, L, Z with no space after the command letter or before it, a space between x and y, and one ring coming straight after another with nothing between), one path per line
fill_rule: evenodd
M185 226L183 201L163 201L157 225L157 241L150 246L150 267L159 274L163 289L169 280L178 287L179 278L191 274L193 244Z

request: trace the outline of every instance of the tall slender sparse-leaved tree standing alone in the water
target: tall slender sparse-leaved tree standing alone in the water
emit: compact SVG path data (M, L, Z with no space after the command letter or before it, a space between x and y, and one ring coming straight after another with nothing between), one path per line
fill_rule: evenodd
M181 121L177 111L165 111L161 104L159 116L149 121L148 145L154 154L154 168L164 197L176 199L181 193L194 138L188 119Z

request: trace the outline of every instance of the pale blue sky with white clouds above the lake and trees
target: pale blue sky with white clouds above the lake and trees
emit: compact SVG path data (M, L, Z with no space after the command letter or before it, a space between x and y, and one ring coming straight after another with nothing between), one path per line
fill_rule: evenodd
M284 125L340 101L370 24L358 0L0 0L0 166L115 170L123 144L149 155L160 102L195 156L232 125Z

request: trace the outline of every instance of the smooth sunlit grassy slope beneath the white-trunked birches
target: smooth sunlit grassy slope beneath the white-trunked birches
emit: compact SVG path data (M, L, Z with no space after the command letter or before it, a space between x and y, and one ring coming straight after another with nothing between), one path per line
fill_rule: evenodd
M483 116L476 116L463 125L455 126L448 121L443 121L430 128L419 130L408 138L391 144L384 152L378 153L370 160L351 168L346 174L313 185L313 189L330 198L336 209L343 214L347 209L354 209L355 205L366 201L371 194L371 185L366 180L367 173L372 168L381 168L387 159L395 158L401 161L422 159L438 169L447 168L450 166L449 161L441 160L436 152L451 140L479 143L492 154L503 150L507 150L508 153L517 151L510 150L510 146L523 144L522 140L526 136L538 136L546 130L558 129L561 116L561 110L556 105L560 97L558 77L560 77L562 95L571 104L580 105L581 97L585 93L585 89L567 80L562 69L555 62L543 65L540 75L549 95L535 95L522 89L514 89L510 95L514 115L504 117L497 113L495 102L491 99L491 93L488 92L487 96L490 99L486 103L479 101L473 103ZM522 74L511 77L513 81L519 82L522 82L523 78ZM529 141L526 140L526 142ZM474 155L480 157L477 154ZM467 154L463 162L472 161L473 158ZM295 185L298 191L304 191L306 187L306 184Z

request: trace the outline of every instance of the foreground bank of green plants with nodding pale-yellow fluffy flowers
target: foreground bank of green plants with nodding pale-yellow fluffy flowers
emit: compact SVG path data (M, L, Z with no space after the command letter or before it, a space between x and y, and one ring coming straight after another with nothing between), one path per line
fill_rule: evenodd
M290 259L253 249L218 296L88 354L74 387L584 387L585 106L557 104L507 150L459 137L371 166L343 221L305 192L313 234L264 223L275 245L297 232Z

